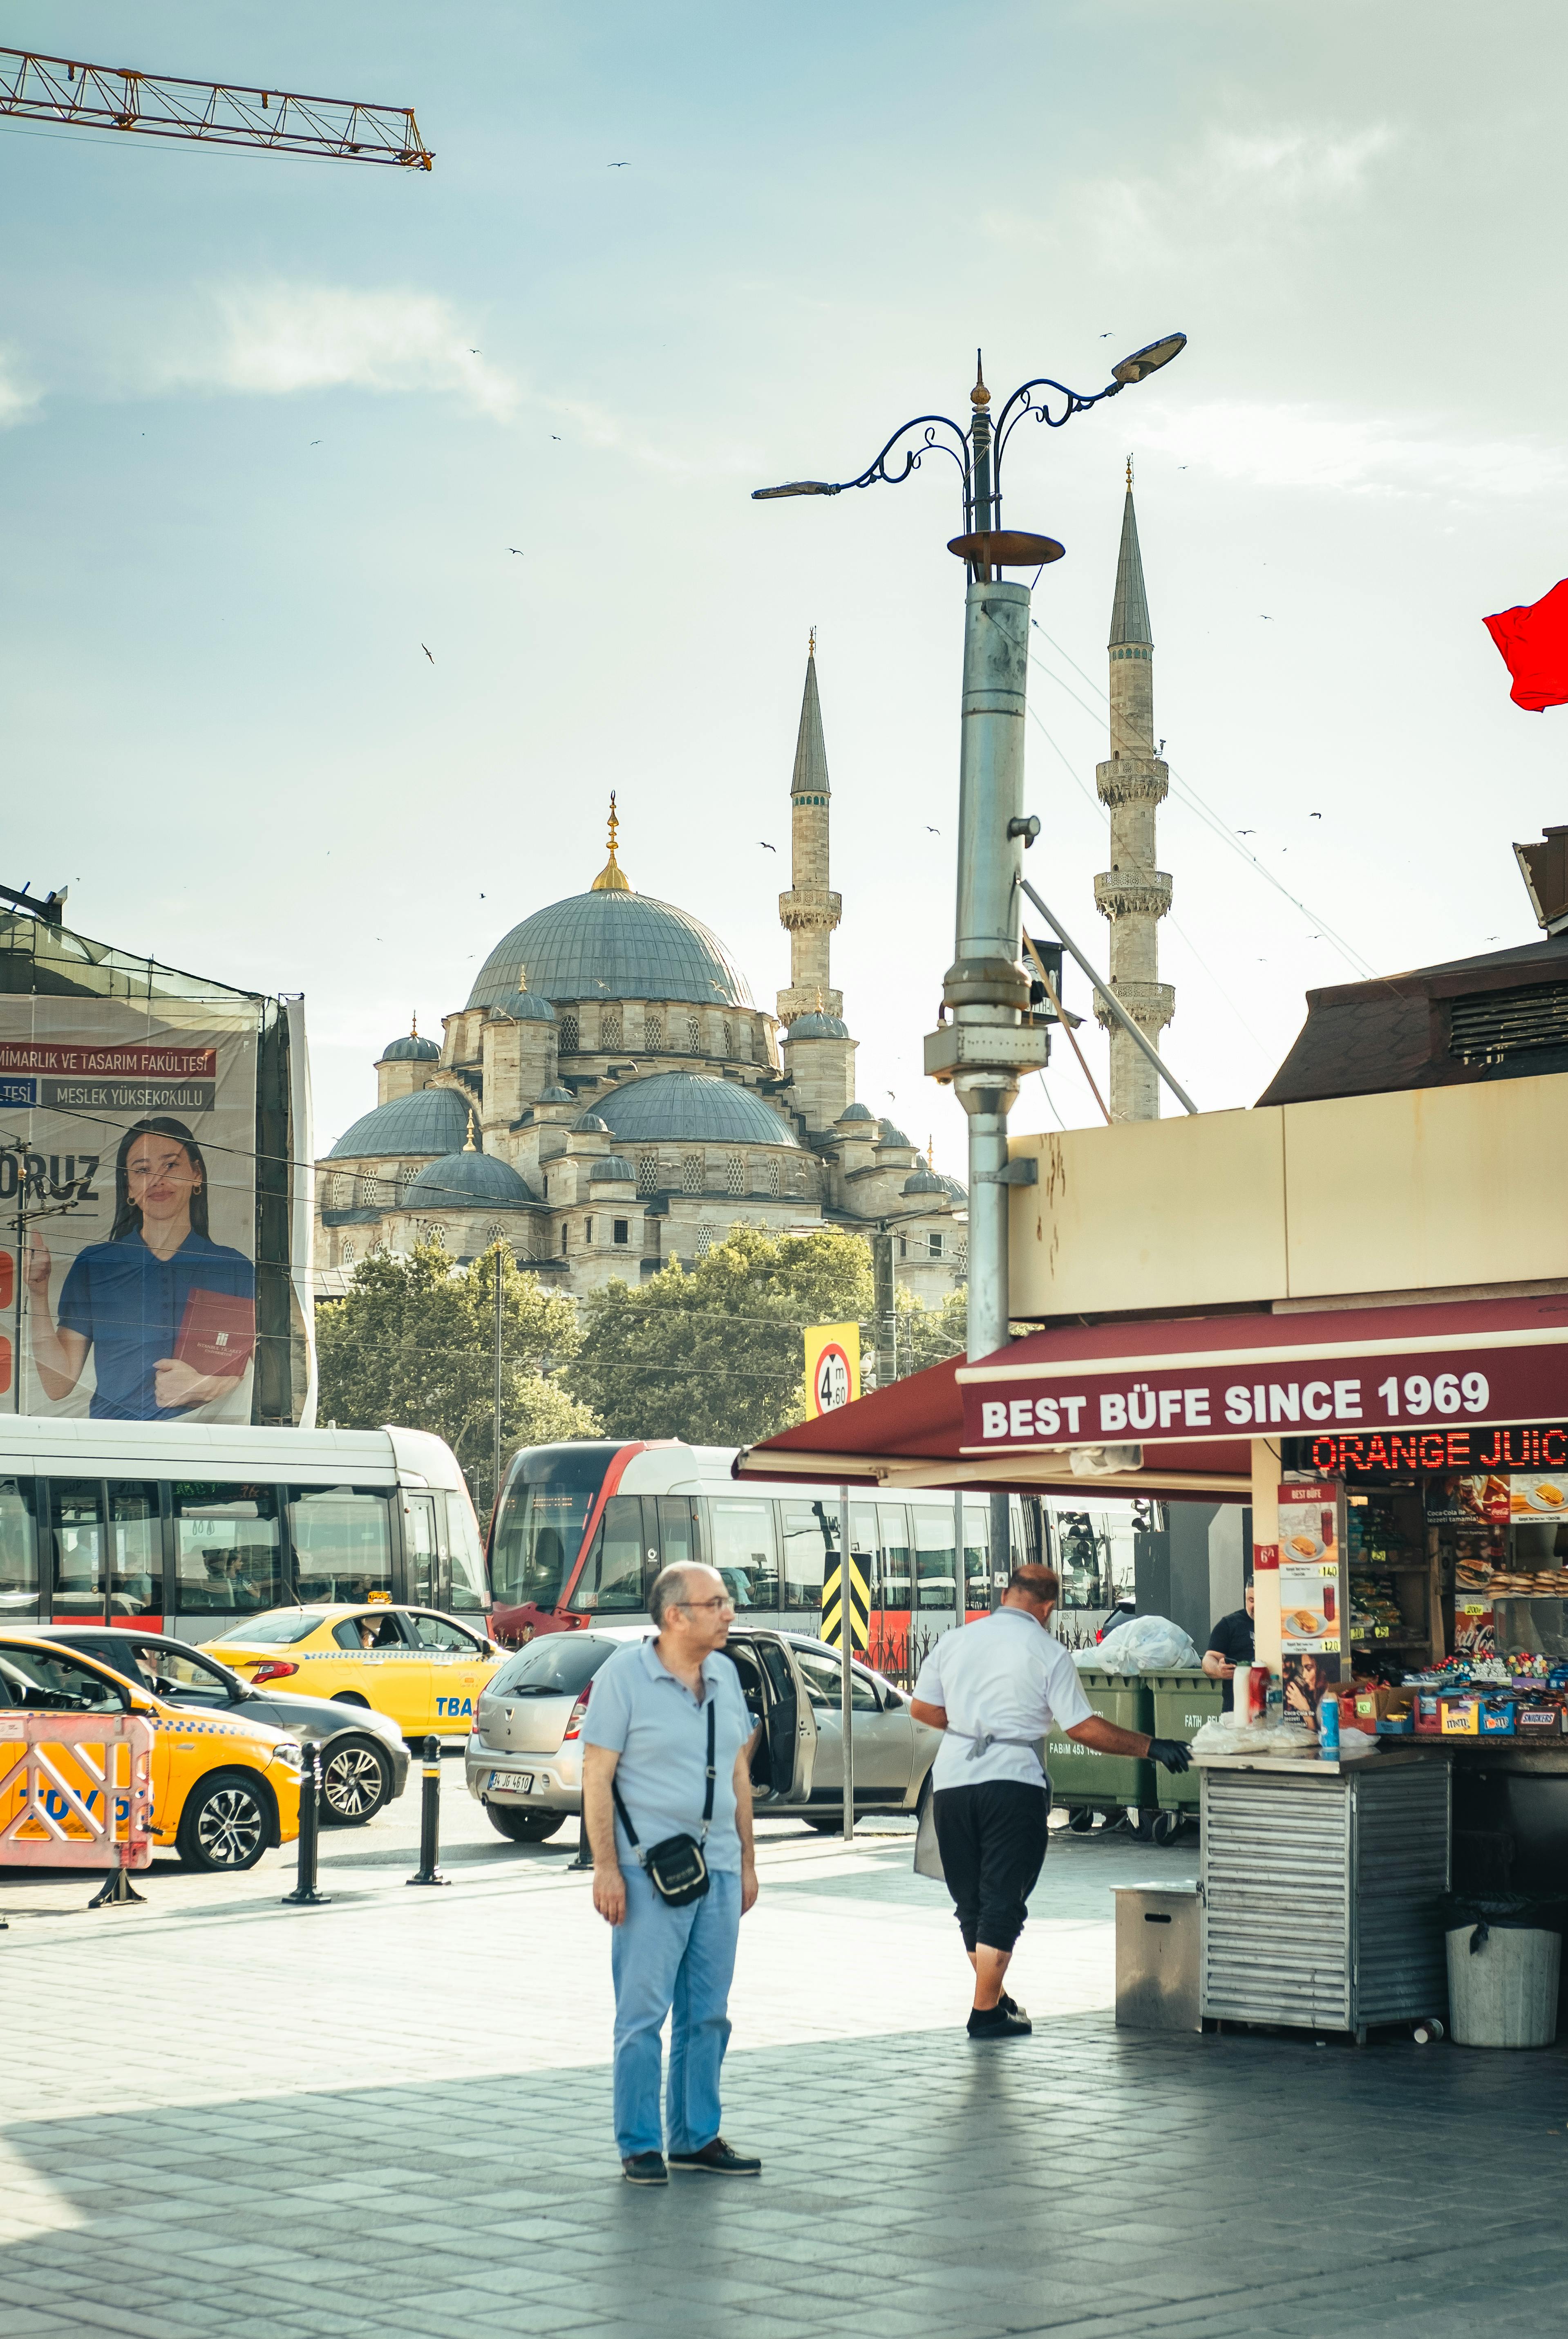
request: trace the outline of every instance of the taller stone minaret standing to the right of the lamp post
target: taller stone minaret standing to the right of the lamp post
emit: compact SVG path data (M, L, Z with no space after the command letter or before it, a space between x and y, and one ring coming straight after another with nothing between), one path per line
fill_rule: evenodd
M1112 922L1112 989L1133 1022L1158 1046L1175 1015L1175 992L1158 980L1158 922L1170 908L1170 877L1154 863L1154 807L1170 774L1154 753L1154 639L1144 564L1133 512L1133 456L1121 512L1116 601L1112 603L1112 755L1095 765L1100 802L1112 814L1112 865L1095 877L1095 908ZM1163 741L1161 741L1163 744ZM1102 1001L1095 1017L1112 1036L1112 1120L1158 1120L1158 1074L1114 1024Z

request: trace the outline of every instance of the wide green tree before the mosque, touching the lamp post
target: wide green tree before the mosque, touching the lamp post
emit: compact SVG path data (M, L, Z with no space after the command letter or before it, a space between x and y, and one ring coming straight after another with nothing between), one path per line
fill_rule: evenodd
M924 1308L899 1289L899 1378L964 1347L967 1293ZM871 1247L845 1228L768 1235L733 1226L690 1272L679 1265L583 1305L566 1380L606 1436L754 1446L805 1413L807 1324L859 1324L871 1354Z

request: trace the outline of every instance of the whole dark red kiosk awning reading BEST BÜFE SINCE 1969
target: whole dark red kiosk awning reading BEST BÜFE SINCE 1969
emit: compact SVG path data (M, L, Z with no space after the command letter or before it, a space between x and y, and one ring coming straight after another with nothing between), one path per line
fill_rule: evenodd
M1247 1499L1254 1436L1392 1436L1392 1469L1432 1469L1432 1438L1563 1420L1568 1296L1158 1317L913 1373L751 1446L735 1476Z

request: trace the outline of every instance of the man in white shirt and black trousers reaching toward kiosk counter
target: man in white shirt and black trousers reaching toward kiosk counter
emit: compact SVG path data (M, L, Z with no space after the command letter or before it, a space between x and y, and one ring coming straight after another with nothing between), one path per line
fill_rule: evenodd
M1002 1607L943 1633L915 1682L915 1722L945 1731L931 1771L936 1843L974 1965L971 2040L1027 2037L1030 2016L1002 1988L1046 1857L1051 1780L1039 1740L1077 1738L1100 1754L1184 1771L1180 1738L1144 1738L1093 1710L1067 1649L1048 1630L1053 1567L1016 1567Z

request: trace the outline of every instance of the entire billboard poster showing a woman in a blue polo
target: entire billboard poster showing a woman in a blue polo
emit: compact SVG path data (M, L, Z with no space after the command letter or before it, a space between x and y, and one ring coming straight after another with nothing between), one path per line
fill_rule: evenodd
M248 1001L0 999L16 1413L250 1420L255 1046Z

